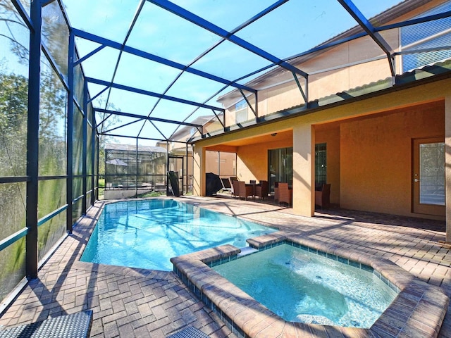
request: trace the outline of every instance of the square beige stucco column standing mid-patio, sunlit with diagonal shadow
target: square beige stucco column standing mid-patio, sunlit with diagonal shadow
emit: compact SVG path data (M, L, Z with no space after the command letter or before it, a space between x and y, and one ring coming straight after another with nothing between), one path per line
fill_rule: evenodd
M314 134L309 124L293 129L293 211L298 215L313 216L314 157L312 157Z

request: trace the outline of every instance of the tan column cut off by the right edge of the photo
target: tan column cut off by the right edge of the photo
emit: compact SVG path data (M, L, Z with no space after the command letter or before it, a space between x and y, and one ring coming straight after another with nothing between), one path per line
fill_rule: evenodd
M445 96L446 242L451 243L451 95Z

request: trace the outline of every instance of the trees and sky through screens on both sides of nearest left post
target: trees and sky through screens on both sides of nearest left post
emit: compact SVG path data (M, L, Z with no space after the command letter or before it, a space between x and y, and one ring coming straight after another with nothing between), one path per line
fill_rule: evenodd
M46 36L54 38L57 25L51 17L44 18ZM66 27L67 30L67 27ZM27 104L28 79L15 73L28 66L28 28L11 1L0 1L0 44L4 58L0 58L0 176L26 175L27 165ZM58 42L49 46L51 53L66 44L67 35L59 35ZM9 51L6 48L9 46ZM60 53L61 54L61 53ZM66 54L67 55L67 54ZM58 60L64 59L62 56ZM44 58L43 58L44 59ZM67 60L67 56L66 56ZM67 62L67 61L66 61ZM63 63L62 63L63 64ZM20 65L20 66L19 66ZM25 67L24 67L25 65ZM66 92L47 64L42 63L39 103L39 173L60 175L66 173ZM61 71L64 70L60 67ZM67 68L67 67L66 67ZM66 71L67 73L67 71ZM63 173L54 173L55 168ZM62 169L61 169L62 168ZM0 239L25 227L25 182L0 184ZM39 189L39 214L47 214L66 203L61 191L61 180L45 181L46 189ZM55 237L61 237L64 222L54 218L51 224L39 228L39 250L47 251ZM58 223L58 224L54 224ZM47 238L49 239L47 241ZM0 299L23 277L24 239L0 251Z

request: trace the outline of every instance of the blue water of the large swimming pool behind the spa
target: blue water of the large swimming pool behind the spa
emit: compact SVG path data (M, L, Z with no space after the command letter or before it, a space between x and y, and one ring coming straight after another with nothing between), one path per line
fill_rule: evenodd
M168 199L106 204L80 261L173 270L172 257L276 231Z

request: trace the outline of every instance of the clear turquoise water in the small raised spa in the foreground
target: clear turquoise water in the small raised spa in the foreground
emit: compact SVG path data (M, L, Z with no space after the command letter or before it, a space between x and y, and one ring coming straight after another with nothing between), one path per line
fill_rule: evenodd
M369 328L397 295L368 270L288 244L213 269L292 322Z

